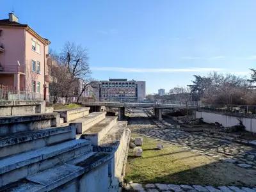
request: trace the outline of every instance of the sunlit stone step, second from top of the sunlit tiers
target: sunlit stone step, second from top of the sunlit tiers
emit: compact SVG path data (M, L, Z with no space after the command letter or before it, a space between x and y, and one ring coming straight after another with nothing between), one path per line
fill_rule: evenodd
M76 127L76 133L82 134L87 129L90 129L93 125L99 123L104 120L106 117L106 112L93 112L83 118L79 118L70 122L70 125Z

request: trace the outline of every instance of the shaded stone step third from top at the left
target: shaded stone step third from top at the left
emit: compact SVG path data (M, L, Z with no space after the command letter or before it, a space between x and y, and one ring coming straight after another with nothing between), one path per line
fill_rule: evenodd
M52 127L0 137L0 159L76 138L75 127Z

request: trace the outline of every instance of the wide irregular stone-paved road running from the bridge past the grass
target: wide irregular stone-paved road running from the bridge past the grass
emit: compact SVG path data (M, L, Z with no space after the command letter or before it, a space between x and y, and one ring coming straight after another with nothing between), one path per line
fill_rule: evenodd
M150 138L168 141L168 143L179 145L191 152L218 158L243 168L256 170L255 147L211 138L202 132L189 133L180 131L179 129L174 129L174 126L168 122L159 122L159 120L148 118L148 113L142 110L133 111L131 117L134 120L129 123L129 128L134 132L144 134ZM152 121L154 124L152 124Z

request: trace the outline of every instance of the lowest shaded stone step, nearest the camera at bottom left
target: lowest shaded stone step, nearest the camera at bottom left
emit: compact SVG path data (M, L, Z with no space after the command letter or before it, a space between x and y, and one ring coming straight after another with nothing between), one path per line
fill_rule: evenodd
M109 191L108 185L102 188L102 183L99 185L99 182L92 182L92 175L90 174L92 172L90 171L98 170L100 166L109 163L112 158L113 154L102 152L93 153L92 156L79 161L76 165L69 163L60 164L54 168L29 175L26 179L4 186L0 188L0 191L77 191L77 186L83 189L83 191ZM110 172L111 177L114 177L115 174L112 168L111 170L107 168L106 171ZM109 179L108 173L106 175L99 175L97 173L96 177L93 177L96 181L99 179L106 180L106 177ZM73 182L74 180L76 181ZM88 182L90 183L89 185Z

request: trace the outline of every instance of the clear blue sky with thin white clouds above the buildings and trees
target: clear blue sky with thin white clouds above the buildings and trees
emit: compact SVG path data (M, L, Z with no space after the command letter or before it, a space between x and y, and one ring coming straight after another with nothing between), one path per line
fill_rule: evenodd
M147 93L256 67L255 0L1 0L1 19L12 10L52 49L86 47L96 79L146 81Z

